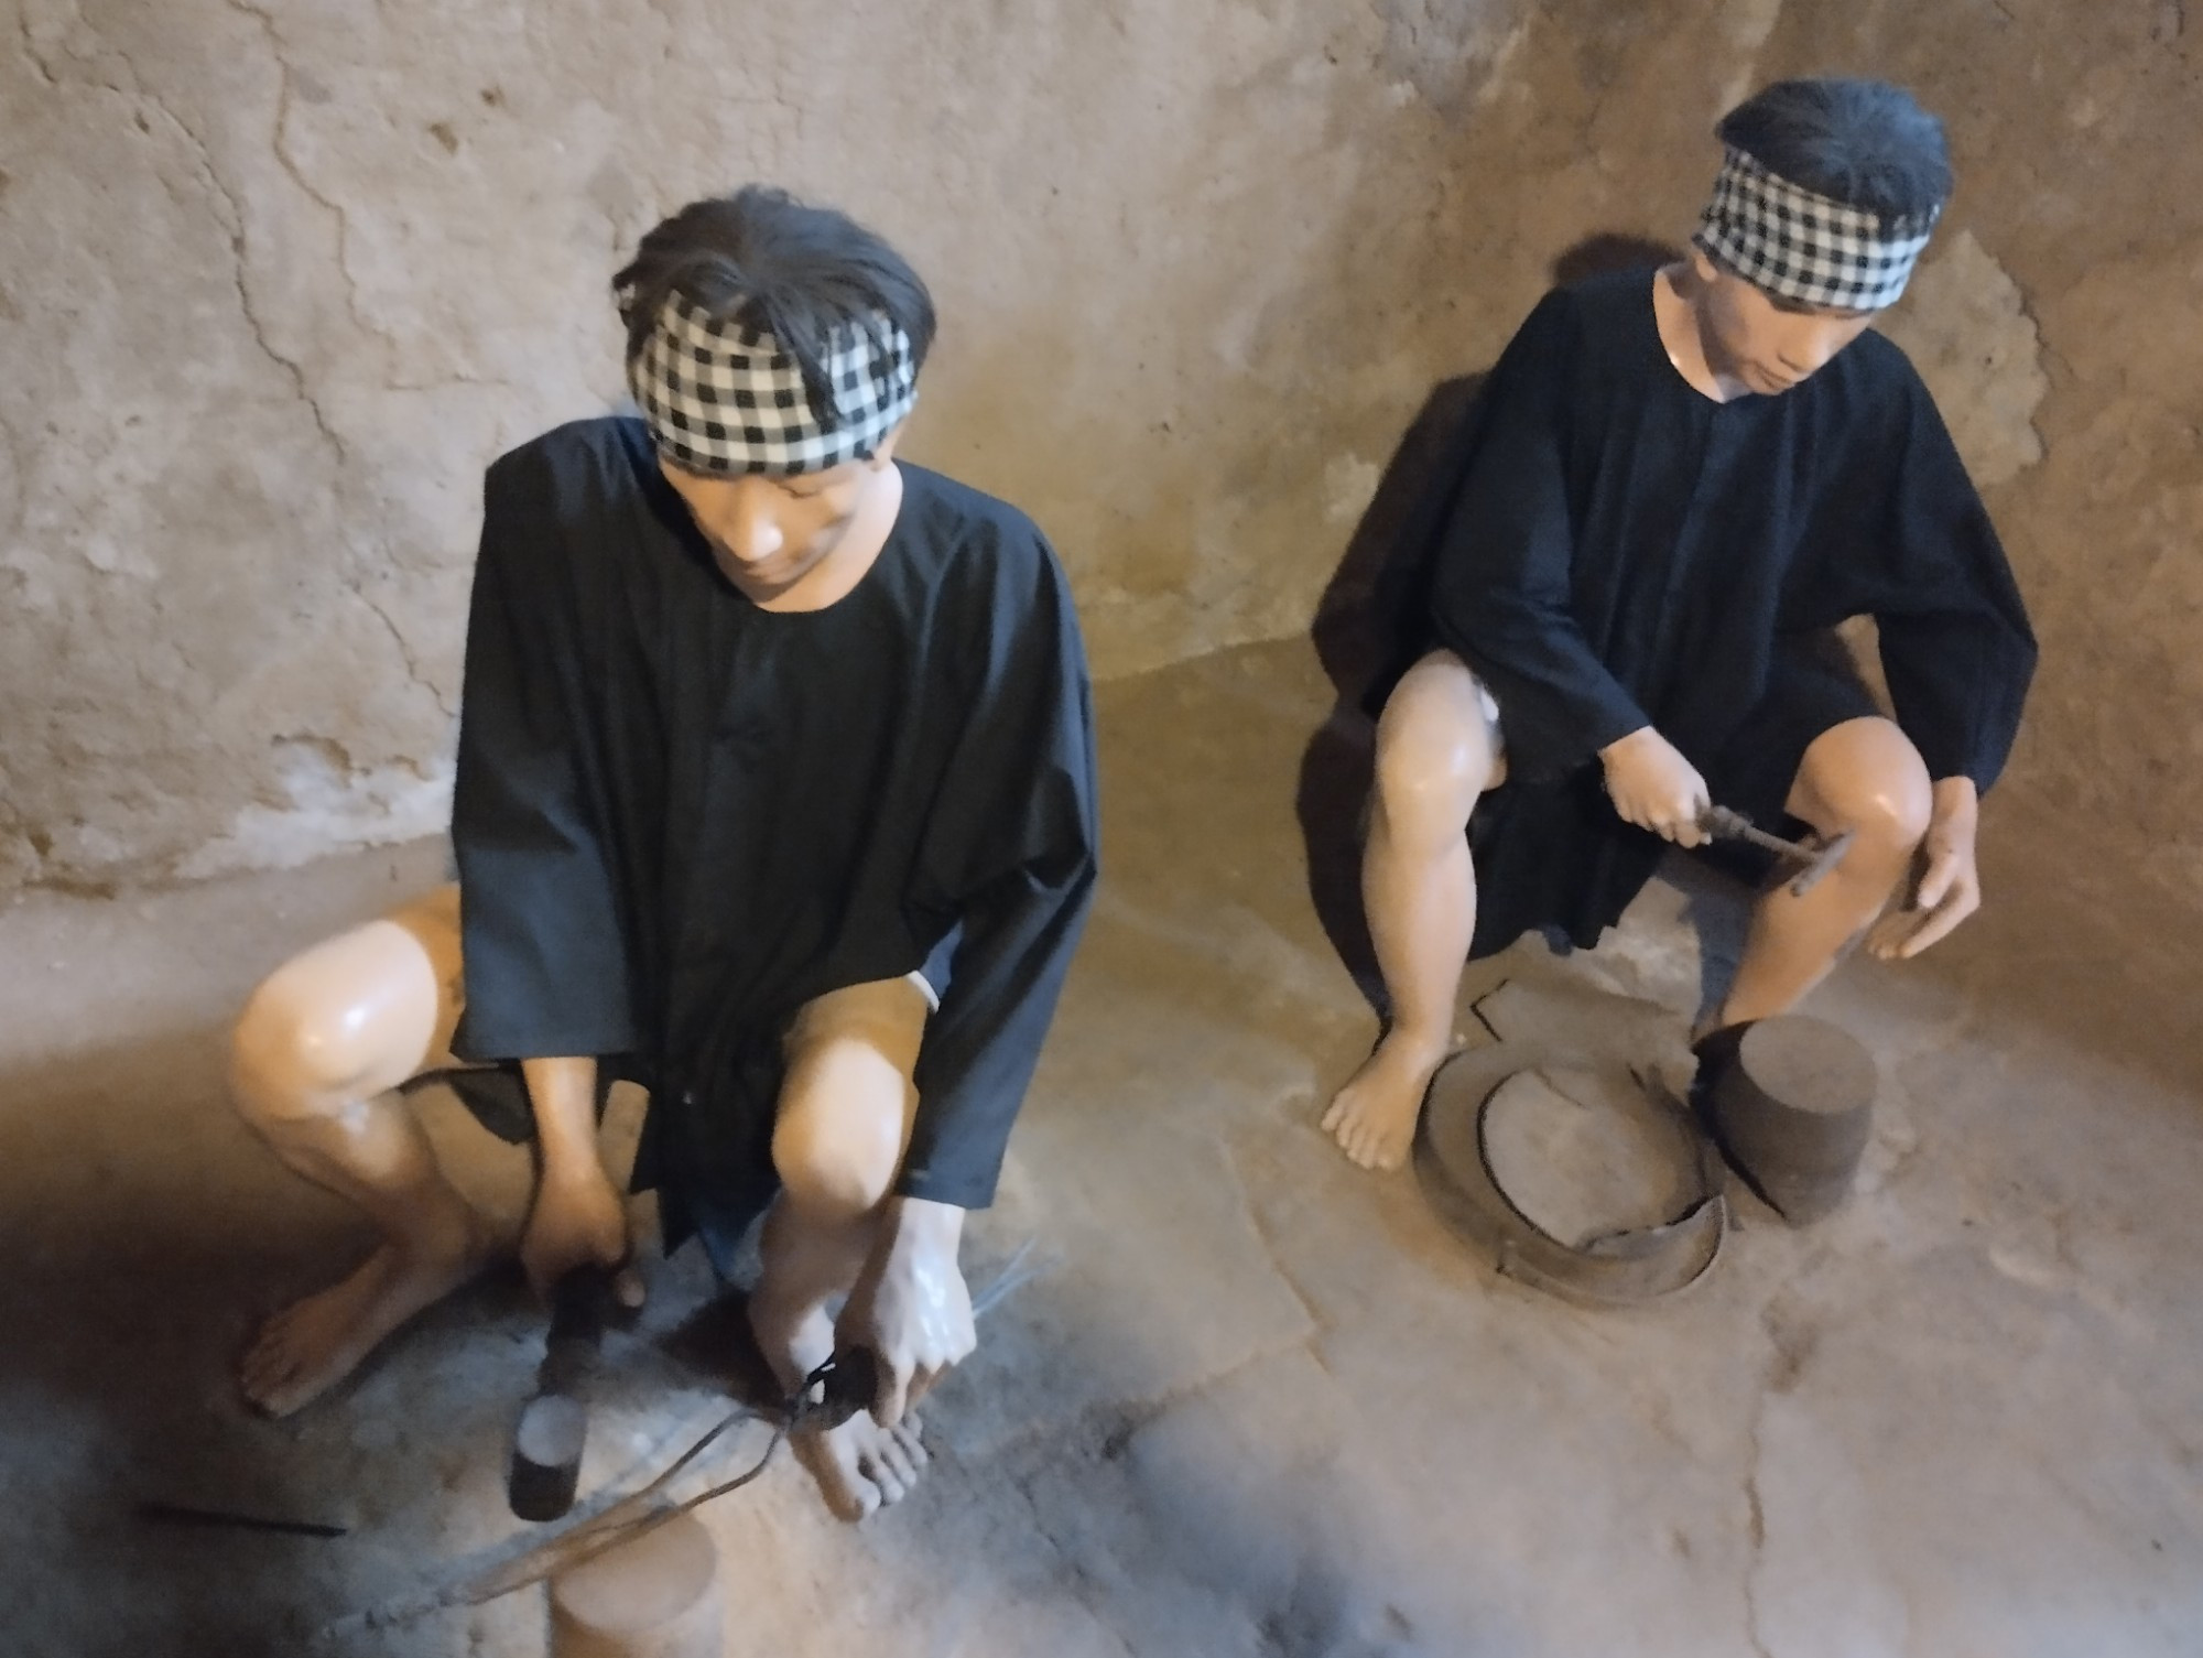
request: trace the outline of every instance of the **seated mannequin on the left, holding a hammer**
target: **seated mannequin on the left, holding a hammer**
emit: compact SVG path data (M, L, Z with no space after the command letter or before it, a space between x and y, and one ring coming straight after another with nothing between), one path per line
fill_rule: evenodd
M300 1409L496 1252L390 1094L427 1072L540 1146L538 1288L626 1266L595 1129L632 1078L668 1248L696 1230L725 1270L769 1206L749 1316L782 1387L877 1358L870 1415L797 1438L855 1519L908 1490L908 1407L976 1341L963 1217L1093 893L1084 655L1031 520L894 461L934 313L877 236L753 187L615 287L643 419L489 470L458 884L238 1023L245 1118L381 1232L242 1385Z

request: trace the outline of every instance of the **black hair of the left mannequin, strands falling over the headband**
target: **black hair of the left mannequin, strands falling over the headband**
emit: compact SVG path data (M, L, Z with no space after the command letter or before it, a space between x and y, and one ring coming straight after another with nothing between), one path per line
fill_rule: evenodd
M886 317L910 340L912 373L934 344L934 298L901 254L848 214L767 185L692 201L643 236L612 291L630 364L679 293L712 322L773 335L795 357L822 421L833 415L824 353L835 329L853 322L877 337Z

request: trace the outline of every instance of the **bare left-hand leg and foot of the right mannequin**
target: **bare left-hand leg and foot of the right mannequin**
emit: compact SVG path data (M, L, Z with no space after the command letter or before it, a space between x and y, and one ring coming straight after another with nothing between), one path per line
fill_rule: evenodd
M1392 1021L1324 1111L1364 1169L1399 1169L1430 1076L1454 1041L1454 992L1476 933L1467 825L1505 776L1476 675L1450 650L1408 670L1377 721L1377 789L1361 853L1361 906Z

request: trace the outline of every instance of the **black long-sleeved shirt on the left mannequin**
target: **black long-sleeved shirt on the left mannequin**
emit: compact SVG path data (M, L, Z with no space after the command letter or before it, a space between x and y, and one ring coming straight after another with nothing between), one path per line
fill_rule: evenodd
M641 421L562 426L489 470L452 838L454 1049L650 1087L668 1241L718 1252L771 1195L793 1012L936 948L899 1191L983 1206L1093 897L1068 584L1029 518L903 465L864 580L764 611Z

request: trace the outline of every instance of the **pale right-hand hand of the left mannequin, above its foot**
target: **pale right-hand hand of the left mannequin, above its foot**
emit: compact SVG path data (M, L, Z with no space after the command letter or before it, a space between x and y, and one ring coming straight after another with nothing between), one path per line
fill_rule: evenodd
M952 1365L978 1347L972 1292L956 1266L965 1213L954 1204L890 1197L879 1244L835 1321L835 1349L879 1360L872 1420L892 1429Z

